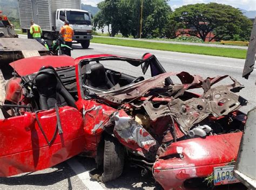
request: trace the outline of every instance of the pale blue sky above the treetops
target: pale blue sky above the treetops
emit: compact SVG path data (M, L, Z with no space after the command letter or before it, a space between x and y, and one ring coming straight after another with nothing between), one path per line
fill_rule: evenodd
M97 6L97 3L101 2L102 0L82 0L82 3L89 4L92 6ZM139 0L132 0L132 1L139 1ZM144 0L146 1L146 0ZM254 11L256 10L256 0L171 0L169 4L171 5L172 9L176 9L182 5L187 4L196 4L196 3L221 3L234 6L235 8L245 9L247 11Z

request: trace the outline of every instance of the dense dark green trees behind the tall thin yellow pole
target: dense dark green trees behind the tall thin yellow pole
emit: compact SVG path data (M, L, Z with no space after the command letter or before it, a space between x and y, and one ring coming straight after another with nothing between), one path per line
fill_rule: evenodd
M93 19L95 27L111 24L111 36L118 32L127 37L139 37L141 1L105 0L98 4L100 11ZM164 36L167 16L171 12L167 0L143 1L142 37Z

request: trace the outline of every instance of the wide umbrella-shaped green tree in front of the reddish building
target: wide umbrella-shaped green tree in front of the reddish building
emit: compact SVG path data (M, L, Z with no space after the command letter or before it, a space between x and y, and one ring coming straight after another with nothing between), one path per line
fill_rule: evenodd
M230 5L218 3L185 5L176 9L173 17L187 29L194 28L194 31L189 33L204 41L207 34L212 31L215 36L211 40L225 37L232 39L234 35L239 35L243 39L250 38L252 26L250 19Z

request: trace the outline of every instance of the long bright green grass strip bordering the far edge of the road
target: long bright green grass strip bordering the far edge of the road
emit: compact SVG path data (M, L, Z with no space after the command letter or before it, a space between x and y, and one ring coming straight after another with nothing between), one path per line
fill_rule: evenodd
M205 46L180 45L180 44L163 44L163 43L153 43L148 41L100 38L100 37L93 37L91 42L98 43L98 44L139 47L139 48L146 48L151 50L163 50L163 51L171 51L171 52L214 55L219 57L238 58L238 59L245 59L246 52L247 52L247 50L240 50L240 49L234 49L234 48L205 47Z

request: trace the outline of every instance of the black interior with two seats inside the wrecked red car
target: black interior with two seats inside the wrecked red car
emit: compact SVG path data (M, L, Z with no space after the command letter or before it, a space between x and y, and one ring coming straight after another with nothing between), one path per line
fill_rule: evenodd
M83 88L92 92L105 92L123 86L143 81L144 77L138 78L125 73L105 68L99 61L86 62L82 65ZM42 67L39 72L22 77L25 94L32 99L33 110L49 110L59 105L76 107L77 82L75 67L53 68Z

